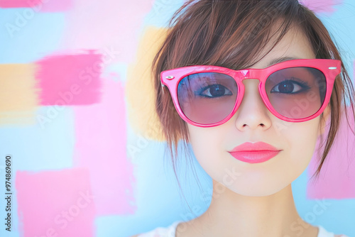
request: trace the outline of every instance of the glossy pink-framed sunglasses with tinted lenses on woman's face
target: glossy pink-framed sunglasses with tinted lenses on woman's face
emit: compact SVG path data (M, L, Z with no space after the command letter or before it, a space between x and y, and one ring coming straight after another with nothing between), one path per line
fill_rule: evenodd
M194 126L219 126L233 116L244 97L244 79L258 79L258 89L271 113L289 122L322 114L341 72L340 60L300 59L264 69L231 70L195 65L160 73L180 117Z

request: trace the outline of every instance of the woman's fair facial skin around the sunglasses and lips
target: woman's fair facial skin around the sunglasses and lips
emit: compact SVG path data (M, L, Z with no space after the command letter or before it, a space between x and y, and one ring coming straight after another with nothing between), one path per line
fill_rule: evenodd
M311 45L300 31L285 37L252 68L265 68L280 57L315 58ZM258 79L244 80L245 94L236 114L211 128L187 124L197 160L213 180L246 196L266 196L280 191L307 167L320 133L320 116L292 123L277 118L266 108L258 92ZM326 111L327 112L328 108ZM281 150L265 162L237 160L229 151L246 142L264 142Z

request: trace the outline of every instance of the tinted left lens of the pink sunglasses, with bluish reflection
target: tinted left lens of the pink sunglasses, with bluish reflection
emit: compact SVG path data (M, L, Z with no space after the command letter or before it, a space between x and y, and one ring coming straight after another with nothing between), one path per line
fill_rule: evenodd
M236 104L238 88L229 75L202 72L188 75L178 84L178 100L182 112L200 124L218 123Z

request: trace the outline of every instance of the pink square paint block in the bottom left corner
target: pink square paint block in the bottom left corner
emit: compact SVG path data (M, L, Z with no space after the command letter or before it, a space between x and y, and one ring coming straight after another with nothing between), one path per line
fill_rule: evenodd
M21 236L94 236L95 199L87 170L18 171L16 189Z

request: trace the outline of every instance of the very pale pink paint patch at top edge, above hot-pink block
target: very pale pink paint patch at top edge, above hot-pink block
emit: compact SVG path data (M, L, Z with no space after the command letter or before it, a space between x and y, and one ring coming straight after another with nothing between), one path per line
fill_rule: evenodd
M61 48L110 51L108 62L133 62L138 35L153 1L76 0L66 14Z

